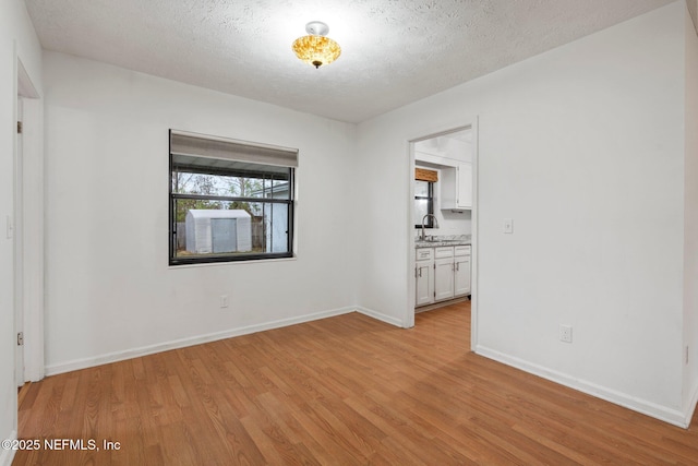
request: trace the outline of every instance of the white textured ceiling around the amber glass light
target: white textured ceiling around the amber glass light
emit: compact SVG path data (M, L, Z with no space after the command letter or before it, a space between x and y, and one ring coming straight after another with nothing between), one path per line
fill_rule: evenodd
M359 122L674 0L26 0L44 48ZM329 25L315 70L291 43Z

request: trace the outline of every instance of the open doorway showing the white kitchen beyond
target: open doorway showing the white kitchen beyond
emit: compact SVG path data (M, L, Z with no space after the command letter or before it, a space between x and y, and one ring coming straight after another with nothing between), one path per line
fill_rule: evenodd
M459 300L477 314L478 127L465 124L409 141L410 300L407 321Z

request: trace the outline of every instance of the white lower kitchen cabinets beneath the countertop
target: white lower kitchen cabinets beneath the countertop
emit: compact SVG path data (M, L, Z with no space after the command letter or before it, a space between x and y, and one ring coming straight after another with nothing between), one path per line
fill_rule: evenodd
M470 246L417 250L416 306L470 295Z

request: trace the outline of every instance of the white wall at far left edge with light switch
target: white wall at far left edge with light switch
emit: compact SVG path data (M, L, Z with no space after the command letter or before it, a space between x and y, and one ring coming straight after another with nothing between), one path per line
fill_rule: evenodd
M0 438L16 434L17 392L14 378L13 240L5 235L5 219L14 211L14 144L16 60L20 58L40 89L41 55L22 0L0 3ZM11 452L0 450L0 465Z

